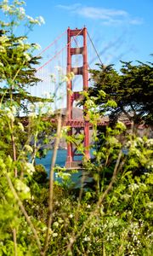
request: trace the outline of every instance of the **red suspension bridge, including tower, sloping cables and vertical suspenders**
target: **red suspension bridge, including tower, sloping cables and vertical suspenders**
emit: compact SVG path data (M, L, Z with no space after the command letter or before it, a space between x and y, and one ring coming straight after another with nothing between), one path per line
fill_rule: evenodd
M63 38L66 43L59 49ZM88 50L88 42L90 43L90 50ZM68 27L39 55L44 63L37 67L37 78L41 79L42 82L37 84L37 88L31 87L30 93L33 96L48 97L54 95L54 110L66 108L66 118L63 125L69 126L69 136L83 134L84 155L89 159L89 129L92 128L92 125L87 118L74 117L73 107L80 99L80 93L83 90L88 90L88 69L91 68L89 65L96 61L101 62L92 38L86 27L82 29L70 29ZM73 79L66 79L69 74L73 74ZM105 122L102 125L105 125ZM65 163L67 169L79 168L81 160L77 160L78 155L82 154L77 153L77 148L72 143L67 143Z

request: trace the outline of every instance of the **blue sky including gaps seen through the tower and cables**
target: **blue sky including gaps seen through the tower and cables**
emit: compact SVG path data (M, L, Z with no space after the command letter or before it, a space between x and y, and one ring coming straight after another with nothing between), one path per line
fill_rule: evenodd
M105 65L115 64L116 70L119 71L120 60L152 61L150 54L153 54L153 0L26 0L25 2L26 15L33 18L41 15L45 20L44 25L35 26L28 34L28 40L40 44L42 49L65 32L68 26L71 29L86 26ZM24 32L21 27L20 35L24 35ZM42 55L41 65L50 60L66 43L65 33L65 37ZM94 56L94 49L88 41L89 64ZM72 65L74 67L80 66L81 60L78 56L77 58L74 61L77 65ZM98 62L99 60L95 59L91 62L90 68L94 68L94 64ZM61 96L66 98L66 89L58 87L59 71L55 68L58 65L63 67L65 73L66 48L65 53L63 51L62 55L59 55L59 59L49 62L49 65L37 72L37 76L43 82L37 85L37 90L31 89L32 95L42 96L44 91L49 91L56 93L57 98ZM52 84L51 73L56 77L56 82ZM82 90L82 78L79 80L78 76L75 76L73 90Z

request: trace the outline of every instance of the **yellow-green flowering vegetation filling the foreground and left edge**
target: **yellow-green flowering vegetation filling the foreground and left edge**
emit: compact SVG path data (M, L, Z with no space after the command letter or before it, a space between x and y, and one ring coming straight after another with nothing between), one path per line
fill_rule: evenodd
M84 160L86 172L81 188L74 189L67 175L62 176L63 183L54 183L56 149L49 180L43 166L35 166L41 148L38 143L47 143L48 124L42 122L43 104L47 102L39 104L37 113L32 106L27 127L17 118L17 109L23 108L27 100L26 85L35 77L31 66L35 63L31 63L34 44L27 44L23 36L16 38L14 26L25 22L31 29L41 19L27 16L22 5L21 1L0 3L11 20L0 22L0 80L6 85L0 108L0 255L152 255L153 139L137 137L135 130L128 134L122 122L105 131L98 130L95 120L108 108L116 111L120 102L108 97L107 88L96 88L97 79L96 94L84 94L88 116L94 122L96 150L94 160ZM151 73L143 78L151 85L152 69L146 68ZM30 80L27 73L31 73ZM101 75L105 73L102 71ZM108 73L107 79L110 75L112 78ZM100 81L101 84L106 87ZM129 84L128 90L130 86L133 89ZM18 101L17 95L23 102ZM97 108L97 101L102 102L98 96L105 98L103 111ZM145 102L147 99L146 96ZM137 108L138 102L133 102ZM141 104L136 113L141 108L144 111ZM150 113L145 112L144 121L148 122ZM142 117L140 111L139 118ZM59 116L55 148L61 134L66 136ZM83 150L82 143L78 149ZM85 189L87 175L92 175L93 182Z

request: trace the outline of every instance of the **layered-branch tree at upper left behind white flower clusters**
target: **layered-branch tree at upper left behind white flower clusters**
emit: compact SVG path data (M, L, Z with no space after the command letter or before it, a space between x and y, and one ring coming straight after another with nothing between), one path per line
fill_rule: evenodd
M43 20L42 17L32 19L26 15L23 4L20 1L9 5L8 1L3 1L0 4L5 15L5 20L0 20L0 98L7 104L14 101L18 108L27 112L28 102L44 101L27 91L29 86L40 82L36 76L40 57L34 55L39 45L29 44L26 35L17 36L15 28L22 25L31 30L35 24L41 25Z

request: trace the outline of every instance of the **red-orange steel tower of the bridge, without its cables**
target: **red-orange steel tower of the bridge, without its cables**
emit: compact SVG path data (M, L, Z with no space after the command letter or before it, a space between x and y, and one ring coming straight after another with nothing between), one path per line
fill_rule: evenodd
M82 36L82 47L71 48L71 38ZM71 67L71 56L82 55L83 65L82 67ZM88 55L87 55L87 28L71 30L67 29L67 74L73 72L75 75L82 75L82 90L88 90ZM67 83L67 124L70 124L69 135L81 133L84 134L84 154L89 159L89 122L84 119L83 122L79 122L77 119L73 119L72 107L73 102L77 101L80 97L80 91L73 91L72 81ZM71 91L71 92L70 92ZM76 168L79 161L76 157L77 148L74 148L72 143L67 143L67 159L66 168Z

